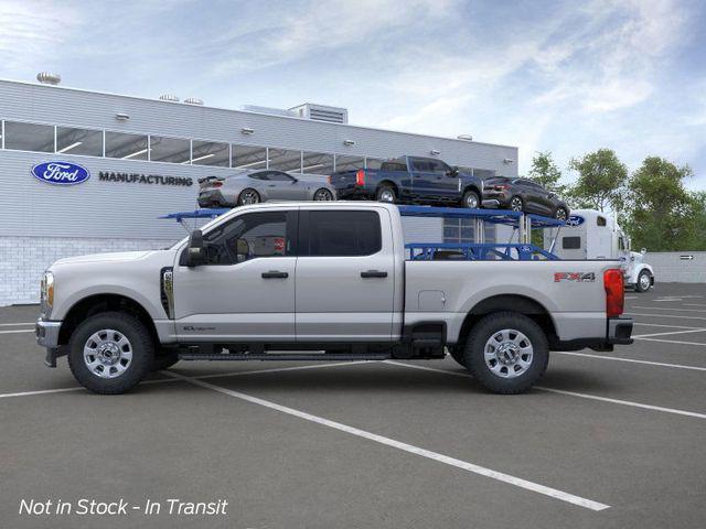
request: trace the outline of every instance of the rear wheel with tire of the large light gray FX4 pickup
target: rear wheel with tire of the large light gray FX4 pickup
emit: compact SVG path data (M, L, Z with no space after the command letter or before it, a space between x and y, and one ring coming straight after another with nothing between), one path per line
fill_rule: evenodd
M547 368L547 337L530 317L496 312L478 322L466 344L466 366L481 386L494 393L521 393Z

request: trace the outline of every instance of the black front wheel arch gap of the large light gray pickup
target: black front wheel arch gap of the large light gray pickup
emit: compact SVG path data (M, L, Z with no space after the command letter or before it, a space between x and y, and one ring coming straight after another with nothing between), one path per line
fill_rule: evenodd
M149 331L154 344L159 344L159 337L154 322L149 312L132 298L125 294L93 294L81 299L72 305L63 319L58 334L60 345L68 344L71 335L76 327L87 317L101 312L125 312L135 316Z

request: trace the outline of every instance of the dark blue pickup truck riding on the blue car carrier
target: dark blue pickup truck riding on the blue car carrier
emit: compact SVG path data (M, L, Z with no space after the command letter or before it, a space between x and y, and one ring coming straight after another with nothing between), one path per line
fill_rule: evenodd
M391 204L441 204L481 207L483 180L435 158L386 160L378 170L341 171L329 176L339 199L364 198ZM493 201L495 202L495 201Z

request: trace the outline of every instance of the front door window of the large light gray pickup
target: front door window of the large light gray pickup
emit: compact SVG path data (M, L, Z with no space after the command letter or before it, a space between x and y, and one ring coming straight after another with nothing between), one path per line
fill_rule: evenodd
M286 212L248 213L204 235L206 264L293 255Z

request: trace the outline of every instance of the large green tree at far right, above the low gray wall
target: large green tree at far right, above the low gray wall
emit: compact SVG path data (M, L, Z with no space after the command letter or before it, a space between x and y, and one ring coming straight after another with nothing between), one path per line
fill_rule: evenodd
M668 251L704 246L698 235L704 227L706 197L684 187L689 176L688 165L677 166L660 156L645 158L632 174L627 227L635 248Z

